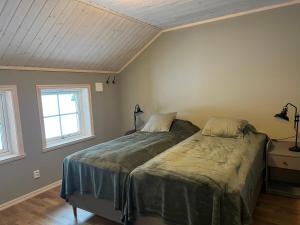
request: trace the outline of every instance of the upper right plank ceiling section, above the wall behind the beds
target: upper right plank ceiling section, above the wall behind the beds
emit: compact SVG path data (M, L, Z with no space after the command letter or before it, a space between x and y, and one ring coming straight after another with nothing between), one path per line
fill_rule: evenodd
M288 0L86 0L145 23L172 28Z

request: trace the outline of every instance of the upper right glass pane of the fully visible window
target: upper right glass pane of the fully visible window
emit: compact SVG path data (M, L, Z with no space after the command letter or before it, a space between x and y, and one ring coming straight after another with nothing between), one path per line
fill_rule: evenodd
M59 107L61 114L77 112L77 93L59 94Z

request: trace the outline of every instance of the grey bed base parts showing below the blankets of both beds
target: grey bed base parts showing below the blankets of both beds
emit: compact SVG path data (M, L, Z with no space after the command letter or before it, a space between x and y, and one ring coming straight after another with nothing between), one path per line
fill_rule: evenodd
M253 194L252 201L250 203L251 212L253 214L258 196L262 190L265 178L265 172L263 172L261 178L257 182L256 190ZM109 200L96 199L92 195L81 195L75 192L69 196L69 203L73 207L74 217L77 218L77 208L89 211L105 219L122 224L121 211L114 209L114 203ZM166 225L159 217L150 216L138 216L135 225Z

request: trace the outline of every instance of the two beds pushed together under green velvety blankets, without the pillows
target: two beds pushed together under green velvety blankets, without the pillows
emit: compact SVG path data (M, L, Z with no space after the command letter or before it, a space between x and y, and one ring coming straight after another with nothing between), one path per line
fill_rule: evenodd
M75 216L82 208L126 225L251 224L267 140L252 131L204 135L175 120L169 132L136 132L68 156L61 197Z

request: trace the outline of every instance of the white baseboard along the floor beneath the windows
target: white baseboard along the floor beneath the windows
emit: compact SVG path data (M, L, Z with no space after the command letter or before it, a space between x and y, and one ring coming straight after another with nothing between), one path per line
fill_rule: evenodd
M35 190L33 192L30 192L28 194L22 195L22 196L20 196L18 198L15 198L15 199L11 200L11 201L5 202L5 203L3 203L3 204L0 205L0 211L2 211L4 209L7 209L7 208L9 208L9 207L11 207L13 205L19 204L19 203L21 203L21 202L23 202L23 201L25 201L27 199L30 199L30 198L32 198L32 197L34 197L36 195L39 195L39 194L41 194L43 192L49 191L50 189L58 187L60 185L61 185L61 180L58 180L58 181L56 181L56 182L54 182L52 184L49 184L49 185L47 185L45 187L42 187L42 188L39 188L39 189L37 189L37 190Z

